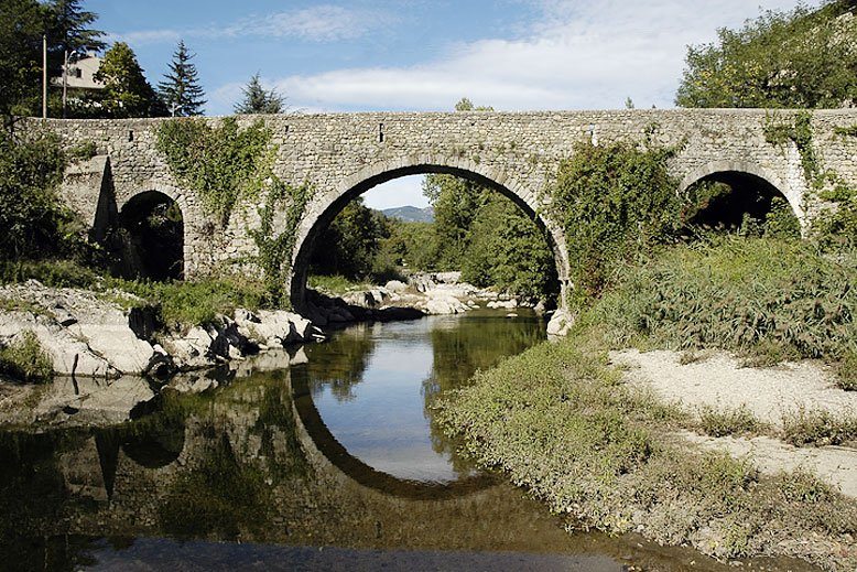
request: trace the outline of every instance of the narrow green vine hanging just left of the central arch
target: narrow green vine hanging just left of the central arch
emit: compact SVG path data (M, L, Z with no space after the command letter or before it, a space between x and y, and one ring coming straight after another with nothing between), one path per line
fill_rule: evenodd
M258 250L257 262L264 272L265 288L273 305L288 303L283 291L286 277L292 271L292 252L297 240L297 226L312 198L308 185L291 186L279 179L268 191L264 204L259 208L259 228L250 229L250 237ZM288 199L282 231L274 235L274 215L278 206Z

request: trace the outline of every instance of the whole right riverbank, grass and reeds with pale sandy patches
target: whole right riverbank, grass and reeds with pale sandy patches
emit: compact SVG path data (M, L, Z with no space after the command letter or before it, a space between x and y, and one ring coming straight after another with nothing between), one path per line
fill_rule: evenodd
M796 242L668 249L442 422L569 527L854 570L854 277Z

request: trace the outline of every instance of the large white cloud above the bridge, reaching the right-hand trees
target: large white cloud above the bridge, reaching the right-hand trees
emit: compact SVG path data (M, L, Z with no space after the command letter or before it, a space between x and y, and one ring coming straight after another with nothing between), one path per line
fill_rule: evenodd
M793 0L758 0L790 9ZM460 97L498 109L670 107L687 44L758 14L746 0L541 2L542 18L519 40L454 46L411 67L336 69L294 75L276 86L296 106L447 110Z

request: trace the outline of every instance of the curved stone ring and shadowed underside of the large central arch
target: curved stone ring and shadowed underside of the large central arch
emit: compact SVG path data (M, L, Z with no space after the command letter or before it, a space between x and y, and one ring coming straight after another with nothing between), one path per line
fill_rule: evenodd
M556 276L560 279L561 288L560 304L561 307L564 307L568 288L568 257L565 235L558 225L544 216L544 205L539 201L536 193L520 185L513 177L490 166L484 166L465 159L448 161L438 158L406 159L372 164L346 177L335 191L313 198L296 230L292 256L292 277L289 285L292 305L299 310L304 307L306 277L315 240L350 201L393 179L435 173L455 175L492 188L511 199L535 220L554 253Z

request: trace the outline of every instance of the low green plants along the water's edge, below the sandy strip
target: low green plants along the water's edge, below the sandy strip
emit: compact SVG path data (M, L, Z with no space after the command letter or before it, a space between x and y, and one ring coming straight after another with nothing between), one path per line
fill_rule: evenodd
M441 402L443 425L480 464L508 472L573 527L638 531L722 559L796 553L857 564L857 553L820 555L802 544L847 546L857 504L811 475L763 476L746 461L664 439L691 421L621 384L606 337L578 326L566 341L477 374ZM738 428L745 422L738 415ZM736 429L735 419L718 423Z

